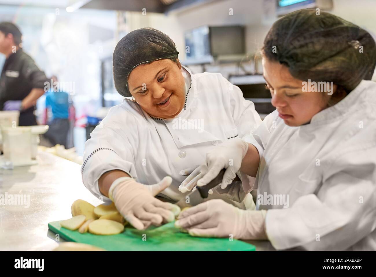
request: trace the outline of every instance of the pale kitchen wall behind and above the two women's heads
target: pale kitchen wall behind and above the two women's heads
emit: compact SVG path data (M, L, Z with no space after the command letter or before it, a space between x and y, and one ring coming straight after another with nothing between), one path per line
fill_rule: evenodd
M271 17L271 20L265 20L264 16L265 9L270 12L270 5L274 3L274 0L218 0L191 9L171 12L167 16L129 12L127 24L130 24L130 30L150 26L167 33L175 41L181 59L185 56L186 30L203 25L245 25L246 50L252 54L261 48L271 24L277 19ZM329 11L332 14L376 34L376 0L333 0L333 6L332 11ZM229 15L230 8L233 9L233 15Z

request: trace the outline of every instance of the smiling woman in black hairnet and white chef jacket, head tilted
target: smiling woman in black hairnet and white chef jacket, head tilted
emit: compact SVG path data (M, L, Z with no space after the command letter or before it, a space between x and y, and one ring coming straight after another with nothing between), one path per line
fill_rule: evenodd
M253 103L220 74L193 75L183 67L174 42L158 30L128 33L115 48L113 65L117 91L132 100L111 108L91 133L82 178L94 195L114 201L127 221L144 229L179 213L179 207L155 195L170 202L184 198L196 180L182 183L182 175L200 175L207 151L249 135L261 119ZM241 181L232 178L209 199L255 209L247 193L254 178L238 175Z

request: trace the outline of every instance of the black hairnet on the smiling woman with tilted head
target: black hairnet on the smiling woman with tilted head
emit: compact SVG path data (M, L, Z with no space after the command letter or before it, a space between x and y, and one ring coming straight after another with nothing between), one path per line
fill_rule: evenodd
M122 96L132 96L128 90L130 72L140 64L158 59L176 59L179 52L168 35L153 28L134 30L125 35L112 56L115 88Z

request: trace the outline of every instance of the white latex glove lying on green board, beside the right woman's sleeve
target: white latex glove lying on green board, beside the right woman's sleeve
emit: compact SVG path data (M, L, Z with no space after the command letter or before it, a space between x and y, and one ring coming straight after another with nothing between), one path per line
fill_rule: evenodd
M175 227L191 236L267 239L266 211L241 210L221 199L212 199L180 213Z

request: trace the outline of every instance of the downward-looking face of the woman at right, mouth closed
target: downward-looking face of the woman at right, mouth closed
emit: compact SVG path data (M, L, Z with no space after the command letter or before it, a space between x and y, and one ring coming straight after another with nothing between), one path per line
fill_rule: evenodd
M286 65L262 58L264 78L271 93L271 104L286 125L300 126L324 110L331 98L326 92L305 91L302 80L294 78ZM332 88L335 93L337 86Z

